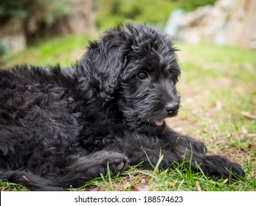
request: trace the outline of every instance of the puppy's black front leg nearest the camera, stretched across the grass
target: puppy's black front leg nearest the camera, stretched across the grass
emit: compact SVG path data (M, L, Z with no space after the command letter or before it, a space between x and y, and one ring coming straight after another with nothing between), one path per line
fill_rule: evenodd
M235 177L243 176L241 166L232 163L225 157L207 155L193 152L179 146L170 138L153 138L142 135L133 135L122 140L122 151L131 161L131 165L143 162L143 167L152 168L159 162L160 154L163 155L160 168L168 168L173 163L184 163L193 171L202 171L210 177Z

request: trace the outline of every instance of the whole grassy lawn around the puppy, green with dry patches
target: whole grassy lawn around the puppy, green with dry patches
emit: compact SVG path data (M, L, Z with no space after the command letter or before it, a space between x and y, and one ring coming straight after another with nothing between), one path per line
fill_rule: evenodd
M4 56L2 68L14 64L69 66L84 52L89 38L41 41L25 51ZM181 164L162 171L132 166L115 177L100 177L72 191L256 191L256 51L230 46L177 43L181 66L181 109L167 124L206 143L210 154L241 164L241 180L212 180ZM159 159L161 161L161 158ZM1 191L23 191L0 183Z

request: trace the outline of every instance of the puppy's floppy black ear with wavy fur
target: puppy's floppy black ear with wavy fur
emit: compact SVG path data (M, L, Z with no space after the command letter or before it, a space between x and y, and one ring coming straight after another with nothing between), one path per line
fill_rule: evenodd
M131 45L130 45L131 46ZM86 54L78 62L83 70L83 80L90 89L91 95L99 94L98 98L105 102L114 99L120 74L127 62L129 44L123 32L113 29L103 35L100 40L89 43Z

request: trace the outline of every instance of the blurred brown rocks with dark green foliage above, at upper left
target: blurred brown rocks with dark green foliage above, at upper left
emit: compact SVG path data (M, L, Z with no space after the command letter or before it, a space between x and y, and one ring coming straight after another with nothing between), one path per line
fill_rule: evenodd
M21 51L58 35L93 35L94 10L94 0L1 0L0 50Z

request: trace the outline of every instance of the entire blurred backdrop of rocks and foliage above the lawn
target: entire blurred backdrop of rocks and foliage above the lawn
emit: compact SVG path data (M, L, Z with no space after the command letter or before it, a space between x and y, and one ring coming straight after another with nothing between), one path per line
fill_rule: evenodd
M41 39L97 35L127 20L187 43L256 48L255 0L1 0L0 56Z

